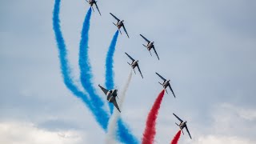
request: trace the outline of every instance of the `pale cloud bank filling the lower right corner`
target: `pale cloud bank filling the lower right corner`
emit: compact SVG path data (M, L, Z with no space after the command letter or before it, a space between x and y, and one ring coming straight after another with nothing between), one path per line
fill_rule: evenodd
M211 123L199 125L193 131L192 143L202 144L253 144L256 110L235 106L231 103L220 103L211 111ZM182 143L191 143L186 139Z

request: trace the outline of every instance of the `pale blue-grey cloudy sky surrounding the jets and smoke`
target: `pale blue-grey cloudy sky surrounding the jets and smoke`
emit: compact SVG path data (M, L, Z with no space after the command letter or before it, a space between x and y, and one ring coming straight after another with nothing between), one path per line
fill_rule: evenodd
M130 130L142 138L146 116L170 79L177 98L165 94L155 143L170 143L178 131L172 113L188 121L179 143L256 143L256 2L98 1L90 21L94 86L105 83L105 59L116 31L110 12L125 20L114 54L116 88L128 77L130 59L140 62L122 108ZM61 26L75 82L78 48L89 5L62 0ZM0 143L104 143L106 134L62 80L52 26L54 0L0 1ZM155 42L160 61L142 46Z

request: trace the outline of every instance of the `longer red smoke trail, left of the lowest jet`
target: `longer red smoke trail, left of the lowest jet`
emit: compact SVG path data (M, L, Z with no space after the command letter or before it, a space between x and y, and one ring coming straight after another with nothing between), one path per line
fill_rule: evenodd
M152 106L150 113L147 116L146 128L143 133L142 144L152 144L154 142L155 122L158 118L158 110L160 108L164 94L165 90L162 90L161 93L158 94L158 98L155 100L154 105Z

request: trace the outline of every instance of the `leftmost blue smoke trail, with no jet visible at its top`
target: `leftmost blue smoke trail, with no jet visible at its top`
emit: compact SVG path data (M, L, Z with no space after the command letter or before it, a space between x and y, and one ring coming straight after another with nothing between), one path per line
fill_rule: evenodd
M89 98L86 94L84 94L81 90L78 90L78 87L74 85L74 82L71 78L71 70L69 66L69 62L67 60L67 52L66 52L66 45L64 42L64 38L62 37L62 31L60 27L60 20L59 20L59 9L60 9L60 2L61 0L55 0L54 4L54 12L53 12L53 28L54 34L58 45L58 52L59 52L59 60L61 64L62 70L62 78L66 87L78 98L82 99L82 102L86 104L86 106L90 109L90 111L94 114L94 118L100 123L100 117L98 117L97 113L94 112L94 106L91 105Z

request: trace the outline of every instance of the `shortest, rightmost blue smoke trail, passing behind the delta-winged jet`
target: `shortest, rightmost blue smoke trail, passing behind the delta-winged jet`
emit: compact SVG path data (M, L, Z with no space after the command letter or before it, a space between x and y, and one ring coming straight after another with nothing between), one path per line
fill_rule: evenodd
M114 37L112 38L112 41L110 42L110 47L109 50L106 54L106 74L105 74L105 86L107 90L112 90L114 89L114 51L115 51L115 46L118 41L118 30L115 32ZM114 106L112 103L109 103L110 106L110 114L113 114L113 109Z

